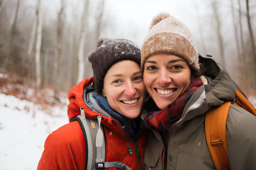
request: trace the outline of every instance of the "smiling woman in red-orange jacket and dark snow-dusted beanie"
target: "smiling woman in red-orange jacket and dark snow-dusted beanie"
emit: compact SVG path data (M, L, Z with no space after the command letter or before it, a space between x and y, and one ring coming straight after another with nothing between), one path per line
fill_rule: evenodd
M146 135L142 133L144 126L139 115L146 88L139 48L124 39L102 39L89 61L94 77L82 80L70 90L69 120L80 114L81 107L89 119L101 116L105 162L120 161L126 165L122 168L144 170ZM47 137L37 170L98 169L87 164L92 155L88 155L86 143L78 121L58 128Z

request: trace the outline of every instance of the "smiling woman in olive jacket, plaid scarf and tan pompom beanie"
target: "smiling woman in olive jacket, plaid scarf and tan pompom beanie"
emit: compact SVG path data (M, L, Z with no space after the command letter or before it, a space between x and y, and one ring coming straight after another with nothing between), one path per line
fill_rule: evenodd
M234 100L238 86L219 62L198 57L189 29L168 14L153 19L141 55L146 89L160 109L144 119L152 129L145 167L215 169L205 139L204 116L212 106ZM231 104L226 127L231 170L256 169L255 129L256 117Z

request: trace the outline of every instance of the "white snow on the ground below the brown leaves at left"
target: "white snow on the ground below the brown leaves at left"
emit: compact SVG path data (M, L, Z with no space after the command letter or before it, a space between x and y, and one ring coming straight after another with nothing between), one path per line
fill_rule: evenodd
M67 104L42 110L0 93L0 170L36 170L46 137L66 123Z

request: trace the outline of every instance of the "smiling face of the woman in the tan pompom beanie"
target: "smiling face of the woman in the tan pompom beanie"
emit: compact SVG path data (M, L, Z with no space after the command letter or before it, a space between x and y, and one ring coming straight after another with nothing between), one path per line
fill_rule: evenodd
M164 109L186 90L191 82L191 69L183 58L159 53L146 59L143 76L147 92Z

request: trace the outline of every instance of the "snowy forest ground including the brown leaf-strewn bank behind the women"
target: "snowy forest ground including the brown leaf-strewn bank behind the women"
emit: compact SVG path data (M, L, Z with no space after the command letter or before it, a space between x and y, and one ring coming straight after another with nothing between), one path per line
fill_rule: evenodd
M0 73L0 170L36 170L46 137L68 123L67 93L35 90L22 78ZM247 96L256 107L256 96Z

